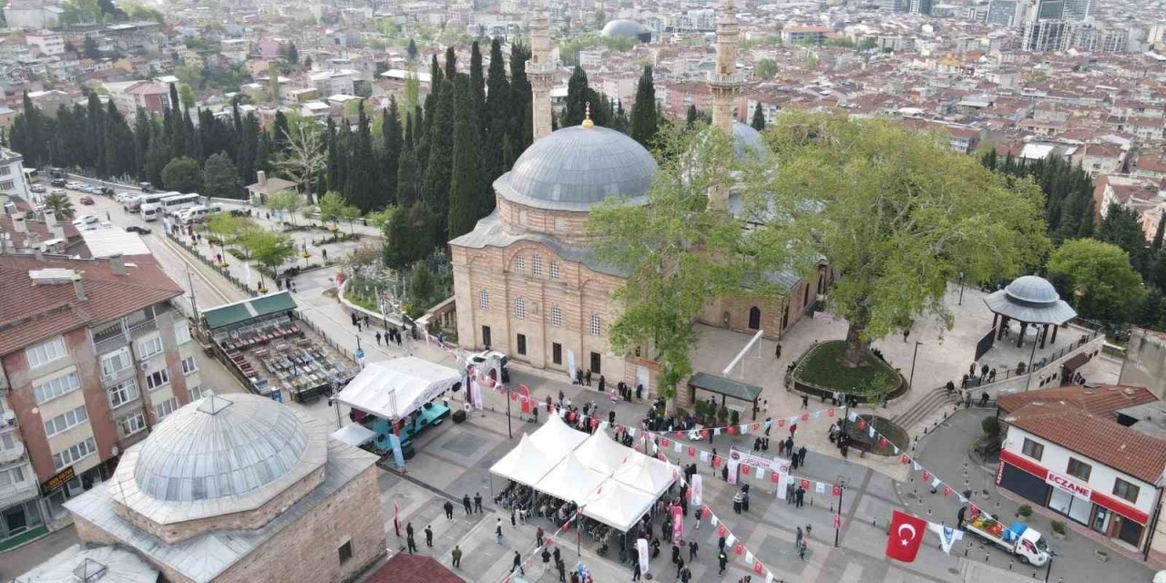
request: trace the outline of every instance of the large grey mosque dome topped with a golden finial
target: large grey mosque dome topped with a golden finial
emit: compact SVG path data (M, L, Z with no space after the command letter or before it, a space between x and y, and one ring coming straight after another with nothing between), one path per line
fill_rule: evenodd
M655 159L635 140L605 127L574 126L531 145L494 188L518 204L585 211L613 196L646 201L655 173Z

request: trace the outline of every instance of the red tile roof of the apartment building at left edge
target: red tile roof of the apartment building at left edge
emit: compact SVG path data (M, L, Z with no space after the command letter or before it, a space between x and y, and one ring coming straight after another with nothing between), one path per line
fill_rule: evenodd
M0 356L77 328L107 322L182 295L150 257L134 257L126 275L106 260L0 255ZM28 272L73 269L85 300L71 283L34 285Z

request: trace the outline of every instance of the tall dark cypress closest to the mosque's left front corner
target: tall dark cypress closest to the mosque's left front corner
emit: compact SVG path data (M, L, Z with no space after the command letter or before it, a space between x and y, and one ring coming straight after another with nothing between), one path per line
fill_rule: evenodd
M469 113L473 96L464 75L454 79L454 161L449 189L449 213L447 225L449 238L459 237L473 229L478 211L483 208L478 191L478 152L476 136L471 129Z

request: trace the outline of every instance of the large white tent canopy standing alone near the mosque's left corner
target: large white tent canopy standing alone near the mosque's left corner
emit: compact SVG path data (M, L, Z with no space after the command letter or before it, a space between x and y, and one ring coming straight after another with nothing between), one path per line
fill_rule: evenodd
M399 421L461 382L462 375L416 357L368 363L336 399L357 410Z

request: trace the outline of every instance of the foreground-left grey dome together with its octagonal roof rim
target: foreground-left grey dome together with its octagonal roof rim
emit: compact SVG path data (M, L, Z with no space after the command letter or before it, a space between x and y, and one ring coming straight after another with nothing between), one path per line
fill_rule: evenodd
M328 461L328 429L301 415L252 394L191 402L126 451L107 491L159 525L257 511L285 492L294 501Z

